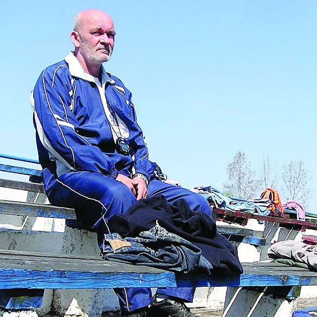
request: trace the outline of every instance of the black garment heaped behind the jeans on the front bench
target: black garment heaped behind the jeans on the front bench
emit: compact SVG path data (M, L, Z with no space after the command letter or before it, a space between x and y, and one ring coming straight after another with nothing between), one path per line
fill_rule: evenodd
M236 275L243 272L237 248L219 234L215 222L204 211L190 210L180 199L168 204L162 195L141 199L124 214L115 214L108 220L111 232L123 238L136 237L156 223L171 233L192 242L202 250L202 255L212 264L212 273Z

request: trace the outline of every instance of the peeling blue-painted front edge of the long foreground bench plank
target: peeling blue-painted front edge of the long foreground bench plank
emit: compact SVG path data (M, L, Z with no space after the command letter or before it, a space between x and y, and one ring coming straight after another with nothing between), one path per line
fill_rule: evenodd
M317 278L302 279L299 275L242 274L212 278L202 274L172 272L82 272L27 269L0 269L0 288L115 288L115 287L200 287L200 286L305 286L317 285Z

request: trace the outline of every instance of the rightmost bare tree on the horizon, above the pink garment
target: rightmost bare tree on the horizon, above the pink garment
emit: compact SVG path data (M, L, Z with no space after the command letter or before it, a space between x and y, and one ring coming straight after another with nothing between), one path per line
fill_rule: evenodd
M307 175L303 161L291 161L289 164L284 164L282 181L285 198L295 200L307 208L313 194L308 184L311 179L312 177Z

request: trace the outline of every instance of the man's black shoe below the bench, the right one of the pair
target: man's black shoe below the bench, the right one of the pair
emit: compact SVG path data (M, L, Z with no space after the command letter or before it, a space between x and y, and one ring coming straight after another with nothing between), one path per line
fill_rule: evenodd
M184 303L177 302L171 297L158 302L156 295L154 295L153 304L151 307L161 309L170 317L198 317L193 315L190 309Z

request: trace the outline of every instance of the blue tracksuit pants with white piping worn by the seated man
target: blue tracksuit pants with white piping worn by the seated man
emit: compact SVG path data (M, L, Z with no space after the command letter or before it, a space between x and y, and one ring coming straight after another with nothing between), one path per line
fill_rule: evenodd
M169 203L184 198L192 210L210 214L207 200L179 186L153 180L148 185L148 197L164 195ZM75 208L78 219L86 227L93 227L102 249L104 234L108 233L106 221L115 213L124 213L136 202L135 196L123 183L103 174L87 171L68 172L59 176L48 190L52 204ZM134 311L152 303L150 288L124 288L114 290L119 298L122 311ZM157 293L181 298L192 302L194 288L159 288Z

